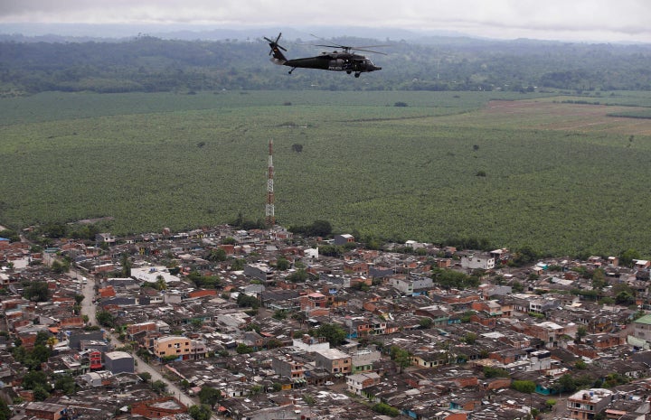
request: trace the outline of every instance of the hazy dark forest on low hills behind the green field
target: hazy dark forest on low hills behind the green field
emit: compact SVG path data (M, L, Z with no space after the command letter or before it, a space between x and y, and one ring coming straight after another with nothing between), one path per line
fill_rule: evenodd
M0 42L0 94L43 91L194 92L233 89L510 90L572 92L651 89L651 45L484 41L440 37L429 43L334 39L344 45L389 43L369 54L381 71L360 79L342 72L269 62L262 40L180 41L141 35L121 42ZM287 42L288 58L324 51Z

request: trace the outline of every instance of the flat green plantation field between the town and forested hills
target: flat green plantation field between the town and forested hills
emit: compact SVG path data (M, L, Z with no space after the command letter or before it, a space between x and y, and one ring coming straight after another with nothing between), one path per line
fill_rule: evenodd
M651 93L567 103L576 99L406 91L2 98L0 224L112 217L109 229L125 234L216 225L238 212L263 219L273 139L285 226L327 219L336 231L383 238L649 256L651 121L608 114L644 114L633 106L648 107Z

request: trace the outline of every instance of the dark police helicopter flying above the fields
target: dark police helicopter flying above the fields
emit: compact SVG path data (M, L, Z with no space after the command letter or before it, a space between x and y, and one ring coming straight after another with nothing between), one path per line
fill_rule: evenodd
M264 37L264 39L267 40L267 42L269 42L269 47L271 47L271 51L269 51L269 55L273 54L273 57L271 57L271 62L273 62L274 64L278 64L280 66L291 67L291 70L289 70L289 74L291 74L292 71L298 68L319 69L319 70L345 71L348 74L354 72L354 76L358 78L360 77L360 74L362 74L363 72L382 70L382 67L377 67L375 64L373 64L373 61L371 61L371 59L360 54L355 54L354 52L351 51L375 52L377 54L386 55L384 54L384 52L365 50L366 48L382 47L384 45L370 45L366 47L347 47L345 45L337 45L337 44L329 44L329 45L316 44L317 47L341 48L342 51L323 52L321 55L317 55L316 57L307 57L304 59L288 60L287 57L285 57L285 55L282 53L282 51L287 51L287 49L278 44L278 41L280 40L280 35L282 35L282 33L278 33L278 37L276 38L275 41L270 40L266 36ZM316 36L316 35L312 35L312 36Z

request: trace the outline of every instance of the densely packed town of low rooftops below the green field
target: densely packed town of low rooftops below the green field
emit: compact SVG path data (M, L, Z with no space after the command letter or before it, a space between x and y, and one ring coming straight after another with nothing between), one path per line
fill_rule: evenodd
M278 225L0 238L0 415L651 414L651 261L357 239Z

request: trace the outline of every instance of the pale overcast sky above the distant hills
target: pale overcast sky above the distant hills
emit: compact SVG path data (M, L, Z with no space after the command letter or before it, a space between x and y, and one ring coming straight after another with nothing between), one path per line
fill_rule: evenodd
M0 0L0 33L7 23L368 26L500 39L651 42L651 0Z

